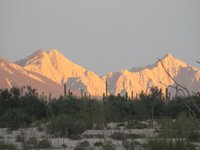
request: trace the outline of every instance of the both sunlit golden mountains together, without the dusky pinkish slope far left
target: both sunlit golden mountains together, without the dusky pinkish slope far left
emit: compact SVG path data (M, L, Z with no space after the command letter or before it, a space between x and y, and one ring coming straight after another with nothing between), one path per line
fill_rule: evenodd
M167 53L161 61L170 75L178 80L180 84L188 86L191 89L190 92L200 90L199 69L176 59L170 53ZM16 64L17 66L20 65L21 68L18 67L18 70L21 69L22 72L25 70L40 74L60 87L66 84L68 89L78 93L82 91L95 97L102 97L105 93L106 80L109 94L123 95L127 92L129 96L132 93L133 96L136 96L141 91L148 93L152 86L164 91L167 87L175 84L158 60L146 67L136 70L122 69L118 72L107 73L102 77L75 64L56 49L47 52L41 49L37 50L28 57L17 61ZM172 95L174 94L173 89L170 89L170 92Z

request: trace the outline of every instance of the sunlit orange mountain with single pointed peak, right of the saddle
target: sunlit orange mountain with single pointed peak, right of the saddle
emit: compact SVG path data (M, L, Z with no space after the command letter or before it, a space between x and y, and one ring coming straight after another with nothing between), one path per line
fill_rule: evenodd
M174 58L171 54L165 55L161 59L161 62L165 66L166 70L170 73L170 75L176 79L178 75L179 78L181 78L182 75L180 75L180 70L182 68L192 68L192 70L188 70L187 72L188 77L192 75L191 72L193 70L198 70L197 68L191 67L183 61ZM126 91L128 95L131 95L132 92L134 92L134 96L136 96L141 91L148 93L152 86L156 86L162 89L163 91L165 91L167 87L175 86L175 83L169 78L164 68L162 67L160 61L157 61L156 63L151 65L151 67L143 68L140 71L132 72L128 70L122 70L117 74L117 79L115 74L107 75L108 83L111 83L111 94L114 95L118 93L124 94L124 91ZM200 83L199 77L200 76L198 75L198 83ZM115 80L114 85L113 79ZM185 80L187 81L188 79ZM180 84L182 84L182 82L182 80L179 81ZM187 84L185 84L185 86L187 87L189 83L190 81L187 81ZM165 85L167 85L167 87ZM197 92L199 91L200 86L196 85L196 88L191 89L193 89L194 91L190 92ZM172 93L172 95L174 95L175 93L174 89L170 89L170 92Z

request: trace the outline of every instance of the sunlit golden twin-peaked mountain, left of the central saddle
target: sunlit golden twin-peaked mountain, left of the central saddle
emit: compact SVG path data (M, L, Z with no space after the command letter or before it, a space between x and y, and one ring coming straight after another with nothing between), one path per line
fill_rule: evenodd
M103 94L104 82L98 75L73 63L56 49L33 53L21 62L26 70L40 73L58 84L66 84L69 89L82 90L93 96Z

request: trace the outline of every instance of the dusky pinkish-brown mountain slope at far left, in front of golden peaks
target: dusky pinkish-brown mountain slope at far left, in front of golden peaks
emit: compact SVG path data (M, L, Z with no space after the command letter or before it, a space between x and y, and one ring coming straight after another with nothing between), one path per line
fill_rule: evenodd
M39 94L51 93L52 97L58 97L62 86L40 74L25 70L23 67L0 59L0 88L32 86Z

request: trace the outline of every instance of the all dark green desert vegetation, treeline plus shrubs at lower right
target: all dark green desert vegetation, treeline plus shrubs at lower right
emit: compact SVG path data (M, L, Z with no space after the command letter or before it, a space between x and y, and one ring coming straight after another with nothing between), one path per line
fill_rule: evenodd
M200 107L198 94L193 95L192 100ZM176 97L166 100L156 88L152 88L149 95L141 93L134 100L130 100L127 96L112 95L103 100L90 97L78 99L71 94L66 98L49 97L47 100L38 96L36 90L30 87L12 88L0 90L0 127L16 130L27 128L33 123L45 124L51 137L80 139L85 130L103 130L110 122L122 122L119 127L125 126L125 129L142 129L154 126L156 121L160 126L157 137L150 138L144 148L160 149L160 146L165 145L166 150L194 149L190 143L199 142L200 134L190 117L191 112L185 101L199 119L200 113L193 106L191 99ZM141 123L142 120L150 120L149 125ZM126 124L123 124L125 122ZM125 139L141 137L116 132L110 138L122 140L127 144ZM4 142L1 142L1 145L13 149L13 145ZM99 143L99 145L104 149L109 146L114 147L110 143L107 145Z

